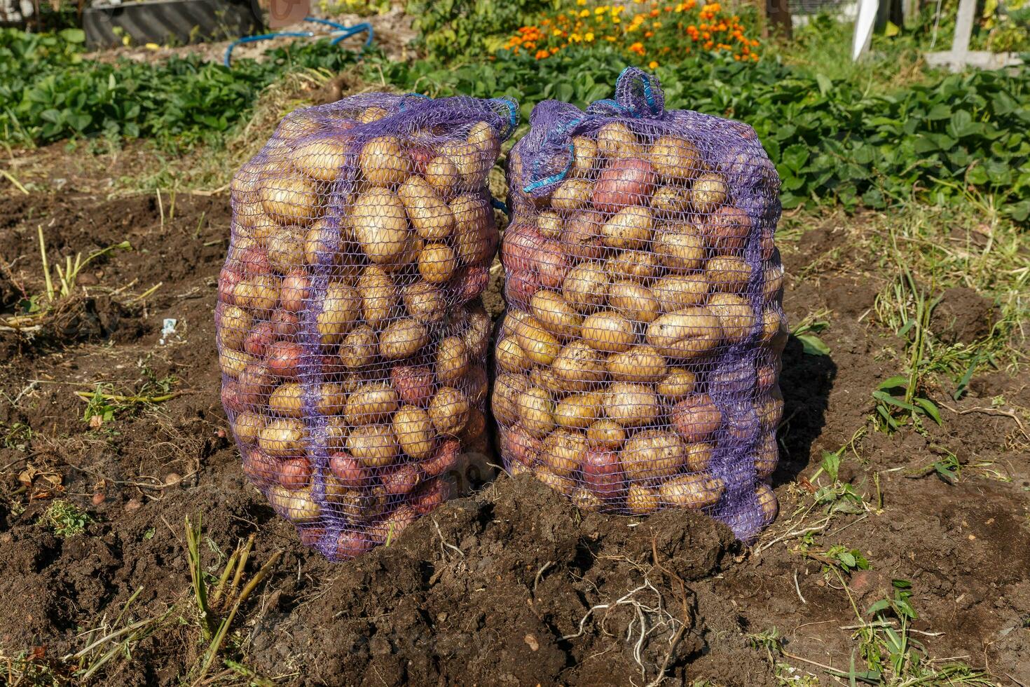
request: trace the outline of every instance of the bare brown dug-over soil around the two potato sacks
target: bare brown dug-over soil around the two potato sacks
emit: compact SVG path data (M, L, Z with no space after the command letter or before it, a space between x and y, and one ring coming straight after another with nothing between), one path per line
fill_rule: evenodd
M775 685L765 650L748 639L774 626L792 656L847 669L857 647L851 602L789 534L812 522L791 514L811 503L822 452L866 426L871 389L898 370L891 351L900 342L865 316L878 284L839 270L789 282L792 321L831 311L820 335L831 353L787 347L774 479L781 518L755 548L701 516L586 515L533 480L502 477L389 547L330 564L245 483L226 439L212 311L227 199L180 194L174 215L164 210L162 221L154 197L0 197L4 313L43 290L37 226L52 263L123 240L134 247L92 264L84 293L31 336L0 331L0 656L29 652L57 666L82 648L83 629L110 623L141 589L134 621L174 605L181 622L137 642L101 682L188 682L203 651L188 611L190 516L202 519L212 574L224 562L214 548L228 553L251 534L248 573L283 552L227 651L290 684L640 685L664 665L665 684ZM838 240L828 226L784 246L788 273ZM496 310L500 276L491 283ZM941 329L956 341L990 327L980 295L949 291L946 304ZM177 324L162 345L165 318ZM169 376L180 396L100 426L83 421L85 402L73 394L100 382L134 392ZM946 421L926 436L855 442L840 475L870 510L834 518L816 548L858 548L872 563L849 580L861 611L892 579L912 581L915 627L927 632L916 639L931 656L964 657L999 684L1030 683L1027 440L991 403L1000 394L1030 406L1030 377L975 377L959 402L950 390L939 394ZM949 453L963 466L958 480L927 469ZM61 539L38 523L58 496L93 517L85 533ZM783 660L795 675L832 681L813 663Z

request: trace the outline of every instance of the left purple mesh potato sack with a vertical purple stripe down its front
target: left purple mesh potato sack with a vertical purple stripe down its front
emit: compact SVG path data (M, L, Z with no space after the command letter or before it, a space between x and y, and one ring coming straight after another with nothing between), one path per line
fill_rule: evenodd
M486 466L486 176L516 122L506 100L367 94L287 115L233 178L222 404L246 476L331 559Z

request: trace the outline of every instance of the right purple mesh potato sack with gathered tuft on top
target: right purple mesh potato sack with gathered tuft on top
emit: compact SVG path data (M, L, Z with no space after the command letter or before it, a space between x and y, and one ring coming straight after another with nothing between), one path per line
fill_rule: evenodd
M747 125L664 109L638 69L546 101L509 157L492 411L506 469L581 508L775 518L779 178Z

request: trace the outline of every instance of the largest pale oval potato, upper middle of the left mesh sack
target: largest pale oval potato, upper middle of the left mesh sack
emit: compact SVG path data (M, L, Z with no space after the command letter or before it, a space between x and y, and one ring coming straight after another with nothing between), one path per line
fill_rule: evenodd
M389 270L411 262L408 215L388 188L375 187L358 196L350 209L350 227L370 262Z

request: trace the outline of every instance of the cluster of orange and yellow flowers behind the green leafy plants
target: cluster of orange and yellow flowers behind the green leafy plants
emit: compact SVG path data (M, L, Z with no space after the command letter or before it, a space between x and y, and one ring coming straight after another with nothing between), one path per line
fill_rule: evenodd
M614 43L638 59L652 56L647 63L655 69L656 56L688 55L692 50L726 53L734 60L758 61L754 50L758 40L747 35L736 14L724 12L718 2L697 0L661 2L633 0L630 5L586 7L587 0L571 0L556 15L542 16L524 26L505 43L518 55L526 50L545 60L575 44ZM643 6L642 6L643 5Z

